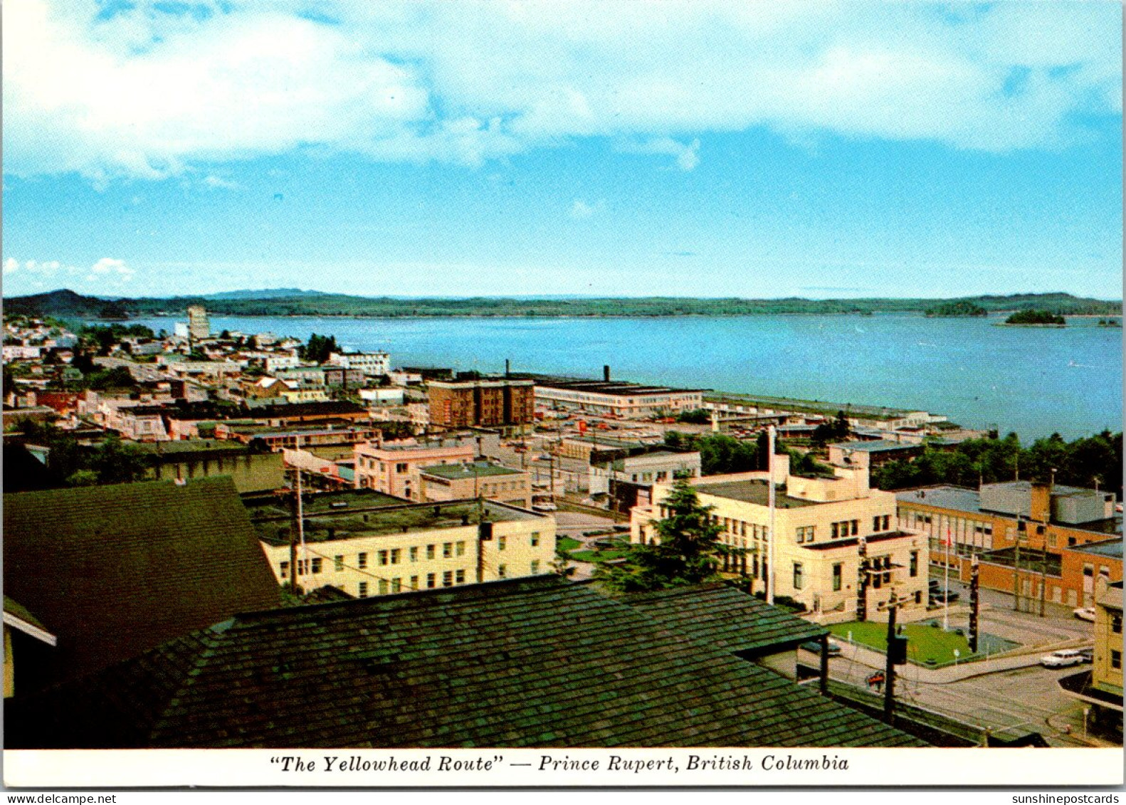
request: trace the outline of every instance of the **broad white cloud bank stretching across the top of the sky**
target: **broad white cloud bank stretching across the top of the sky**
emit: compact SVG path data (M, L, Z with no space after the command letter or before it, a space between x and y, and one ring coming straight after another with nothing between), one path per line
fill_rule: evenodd
M104 185L310 147L475 166L577 137L691 170L709 132L1006 151L1121 111L1110 2L315 5L338 24L304 0L168 8L6 3L5 170Z

